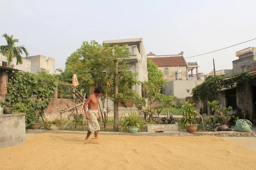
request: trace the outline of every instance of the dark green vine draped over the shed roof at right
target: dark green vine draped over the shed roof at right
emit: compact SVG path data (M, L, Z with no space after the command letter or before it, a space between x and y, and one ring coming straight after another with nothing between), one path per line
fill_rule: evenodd
M222 88L234 89L255 81L255 75L240 72L229 76L207 77L204 82L192 89L193 99L212 102L218 100Z

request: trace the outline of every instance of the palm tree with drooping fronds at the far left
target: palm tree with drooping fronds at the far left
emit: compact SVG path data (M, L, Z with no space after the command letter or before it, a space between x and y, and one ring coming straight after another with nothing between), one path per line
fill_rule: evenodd
M26 54L26 57L28 57L29 52L27 51L27 49L23 45L16 47L15 42L19 42L19 40L13 39L13 35L9 37L9 35L3 34L3 37L6 38L7 45L0 45L0 52L4 56L6 56L8 61L8 66L10 67L11 62L14 58L17 59L16 65L22 64L23 57L21 56L21 54L23 54L24 52Z

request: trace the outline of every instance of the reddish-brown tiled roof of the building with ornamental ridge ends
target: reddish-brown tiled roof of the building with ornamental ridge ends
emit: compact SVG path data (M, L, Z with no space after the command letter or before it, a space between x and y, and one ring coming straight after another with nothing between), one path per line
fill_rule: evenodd
M186 66L183 57L154 57L151 59L158 67Z

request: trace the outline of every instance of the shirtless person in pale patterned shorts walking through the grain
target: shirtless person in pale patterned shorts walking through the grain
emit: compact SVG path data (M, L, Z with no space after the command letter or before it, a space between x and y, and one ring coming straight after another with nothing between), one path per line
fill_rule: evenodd
M92 131L94 131L94 136L97 138L98 137L98 132L100 130L99 127L99 122L97 120L97 117L99 116L99 119L101 119L101 116L99 114L99 109L98 109L98 104L99 104L99 97L104 93L104 90L102 87L97 87L94 90L94 94L91 94L86 102L84 103L84 112L85 112L85 117L88 120L88 126L89 130L87 132L87 136L84 139L86 141L89 139L90 134ZM88 111L86 109L86 106L88 107ZM98 116L97 116L98 114Z

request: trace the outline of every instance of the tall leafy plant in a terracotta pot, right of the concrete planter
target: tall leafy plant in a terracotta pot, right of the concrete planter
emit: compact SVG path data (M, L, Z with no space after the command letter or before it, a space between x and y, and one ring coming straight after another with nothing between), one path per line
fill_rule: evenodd
M183 117L180 119L181 123L185 125L187 132L195 133L198 125L196 125L196 116L198 115L198 111L195 109L195 103L189 103L189 100L183 102Z

